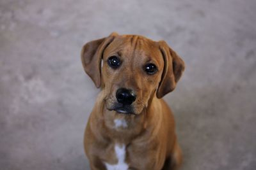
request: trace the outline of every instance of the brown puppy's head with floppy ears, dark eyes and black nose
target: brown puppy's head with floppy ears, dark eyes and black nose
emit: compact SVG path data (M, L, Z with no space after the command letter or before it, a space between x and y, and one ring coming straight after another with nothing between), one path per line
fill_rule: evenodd
M153 97L175 89L184 62L164 41L118 35L83 46L84 71L101 87L108 110L140 114Z

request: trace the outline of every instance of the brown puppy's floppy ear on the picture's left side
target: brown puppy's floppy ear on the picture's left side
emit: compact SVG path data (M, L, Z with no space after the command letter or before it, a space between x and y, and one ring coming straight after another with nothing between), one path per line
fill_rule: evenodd
M81 61L84 71L92 78L96 87L99 88L101 84L101 60L104 50L107 46L118 36L113 32L106 38L96 39L86 43L81 51Z

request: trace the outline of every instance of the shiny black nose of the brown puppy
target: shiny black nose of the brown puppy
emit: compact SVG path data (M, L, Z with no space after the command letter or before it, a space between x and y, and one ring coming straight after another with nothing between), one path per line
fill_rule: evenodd
M116 99L122 104L132 104L136 100L136 94L133 90L121 88L116 91Z

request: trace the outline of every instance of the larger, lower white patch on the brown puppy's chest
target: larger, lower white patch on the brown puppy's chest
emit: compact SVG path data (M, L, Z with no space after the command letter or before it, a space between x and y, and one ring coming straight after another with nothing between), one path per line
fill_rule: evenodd
M117 164L111 165L108 163L106 167L108 170L127 170L128 165L125 163L125 145L115 145L116 158L118 160Z

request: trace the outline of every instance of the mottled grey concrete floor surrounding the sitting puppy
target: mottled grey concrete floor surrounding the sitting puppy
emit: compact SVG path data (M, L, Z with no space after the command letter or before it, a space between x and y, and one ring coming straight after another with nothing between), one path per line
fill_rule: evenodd
M90 169L83 132L99 92L87 41L166 40L186 62L172 94L181 169L256 169L256 1L0 1L0 169Z

